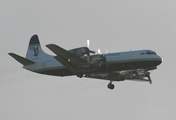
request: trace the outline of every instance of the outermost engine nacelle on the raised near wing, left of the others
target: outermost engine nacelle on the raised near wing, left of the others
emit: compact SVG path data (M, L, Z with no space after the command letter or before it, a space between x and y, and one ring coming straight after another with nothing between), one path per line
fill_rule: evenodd
M72 54L75 54L78 57L82 57L85 54L89 54L89 49L87 47L80 47L80 48L71 49L69 50L69 52L71 52Z

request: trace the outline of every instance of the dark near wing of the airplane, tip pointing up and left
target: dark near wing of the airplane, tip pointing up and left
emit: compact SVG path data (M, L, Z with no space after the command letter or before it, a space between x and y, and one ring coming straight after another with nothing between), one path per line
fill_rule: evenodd
M78 68L81 65L88 64L87 61L82 58L68 52L67 50L55 45L49 44L46 45L52 52L54 52L57 56L55 57L61 64L63 64L66 68L68 68L72 73L77 73Z

